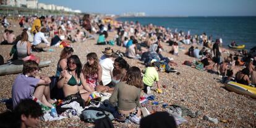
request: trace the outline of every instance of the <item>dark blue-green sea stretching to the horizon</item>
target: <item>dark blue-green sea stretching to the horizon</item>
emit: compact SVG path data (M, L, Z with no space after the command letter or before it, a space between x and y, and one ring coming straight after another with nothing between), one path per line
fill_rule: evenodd
M232 41L245 44L246 49L256 46L256 17L119 17L117 20L138 21L142 25L153 23L184 33L190 30L192 35L205 32L213 39L222 38L224 47Z

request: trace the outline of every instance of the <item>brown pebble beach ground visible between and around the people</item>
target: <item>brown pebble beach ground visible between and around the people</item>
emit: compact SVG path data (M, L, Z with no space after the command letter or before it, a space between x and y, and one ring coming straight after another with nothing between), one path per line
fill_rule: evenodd
M18 23L17 23L18 26ZM4 28L0 28L1 31ZM20 31L19 27L11 28L15 32ZM17 33L15 33L17 35ZM108 39L113 39L116 31L109 33ZM2 34L0 35L2 36ZM87 61L86 55L90 52L95 52L98 57L101 57L105 47L111 47L114 51L120 50L124 52L125 47L120 46L97 46L96 39L88 39L84 42L75 42L72 44L74 55L78 55L82 63ZM174 68L179 73L161 73L159 72L160 82L163 88L163 94L156 94L155 100L159 102L162 111L163 103L168 105L182 105L189 108L191 111L199 111L196 118L186 116L187 122L179 125L179 127L256 127L256 100L249 96L239 95L235 92L229 92L221 84L220 77L217 74L211 74L207 71L200 71L190 66L182 65L185 60L193 61L195 58L185 54L189 46L185 50L179 50L179 56L169 54L170 47L163 43L164 51L162 54L165 57L172 57L178 66ZM0 54L6 58L12 46L0 46ZM50 47L53 51L34 52L33 54L41 58L41 61L50 60L51 64L45 68L41 68L40 74L54 76L56 73L56 65L58 63L59 54L62 50L60 47ZM232 51L230 51L232 52ZM134 60L124 57L125 60L132 66L138 66L141 70L145 66L139 60ZM0 76L0 98L11 98L12 83L17 74L9 74ZM143 94L143 93L142 93ZM0 104L0 113L6 111L6 105ZM203 116L217 118L218 124L206 121ZM124 124L114 121L115 127L139 127L137 124ZM81 121L80 119L62 119L60 121L41 121L38 127L94 127L93 124Z

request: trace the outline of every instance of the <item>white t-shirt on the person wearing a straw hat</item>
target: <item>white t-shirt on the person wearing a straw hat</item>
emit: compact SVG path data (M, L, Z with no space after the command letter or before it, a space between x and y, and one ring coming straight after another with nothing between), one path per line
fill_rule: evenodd
M109 84L112 81L111 73L114 69L114 62L110 58L105 58L104 60L100 60L100 66L102 68L102 82L103 86Z

